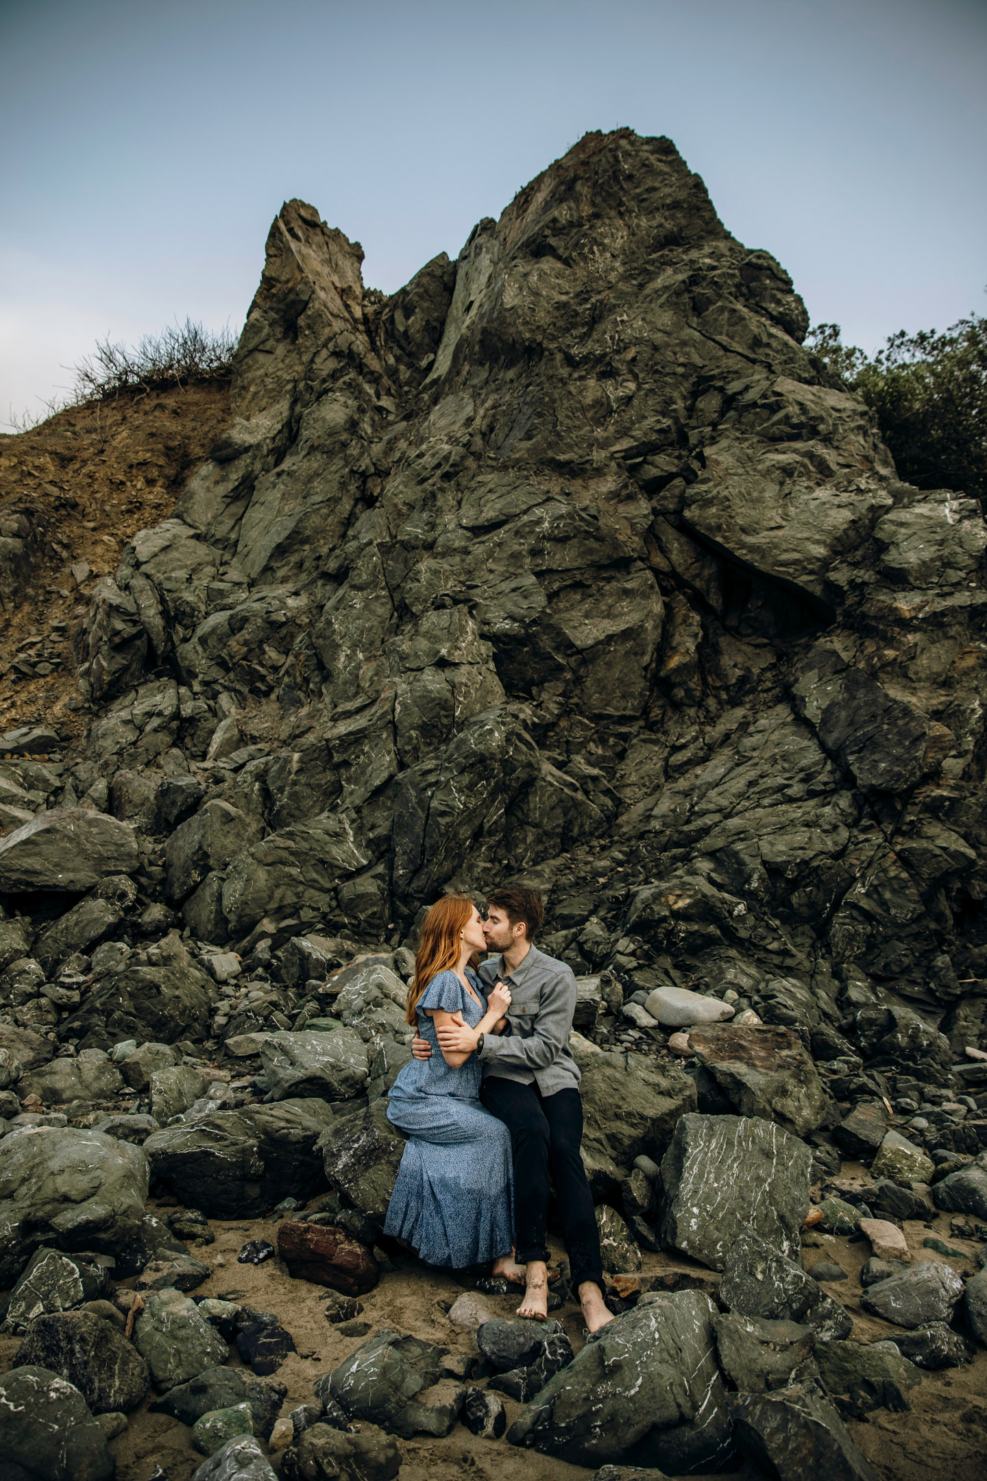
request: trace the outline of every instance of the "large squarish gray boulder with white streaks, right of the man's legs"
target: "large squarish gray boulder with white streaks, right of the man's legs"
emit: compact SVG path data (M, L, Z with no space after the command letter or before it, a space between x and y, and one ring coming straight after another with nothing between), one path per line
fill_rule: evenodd
M661 1160L663 1243L715 1271L747 1229L796 1254L811 1163L805 1142L769 1121L684 1115Z

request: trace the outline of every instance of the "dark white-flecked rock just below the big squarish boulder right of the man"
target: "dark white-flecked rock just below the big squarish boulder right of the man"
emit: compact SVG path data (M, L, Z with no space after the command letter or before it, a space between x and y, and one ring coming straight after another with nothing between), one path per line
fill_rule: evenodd
M731 1311L768 1321L796 1321L817 1337L848 1337L852 1318L795 1260L746 1231L731 1246L719 1283L719 1299Z

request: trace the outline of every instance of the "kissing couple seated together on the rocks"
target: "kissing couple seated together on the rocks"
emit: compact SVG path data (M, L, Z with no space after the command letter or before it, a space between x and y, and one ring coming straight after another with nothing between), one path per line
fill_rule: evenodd
M611 1315L568 1047L576 977L534 945L545 918L537 890L493 890L487 906L484 921L472 900L450 895L422 926L407 1004L414 1057L388 1102L408 1142L385 1232L428 1265L491 1260L493 1275L524 1283L518 1315L543 1320L553 1185L573 1290L596 1331ZM476 966L482 952L497 955Z

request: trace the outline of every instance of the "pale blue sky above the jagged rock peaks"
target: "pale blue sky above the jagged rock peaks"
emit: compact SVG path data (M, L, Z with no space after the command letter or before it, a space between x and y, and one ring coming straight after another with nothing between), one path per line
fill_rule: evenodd
M0 421L240 329L300 195L392 292L587 129L675 139L812 321L984 311L984 0L0 0Z

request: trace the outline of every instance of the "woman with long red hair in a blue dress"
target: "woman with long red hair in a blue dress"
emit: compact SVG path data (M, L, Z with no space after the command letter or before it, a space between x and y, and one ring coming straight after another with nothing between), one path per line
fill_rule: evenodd
M503 1262L513 1244L511 1133L479 1103L476 1053L445 1053L435 1035L454 1017L481 1034L503 1026L509 989L497 983L487 998L469 970L471 957L485 949L471 900L448 895L431 908L407 1020L428 1040L432 1056L407 1063L388 1100L388 1118L408 1133L408 1143L385 1232L410 1244L426 1265L451 1269Z

